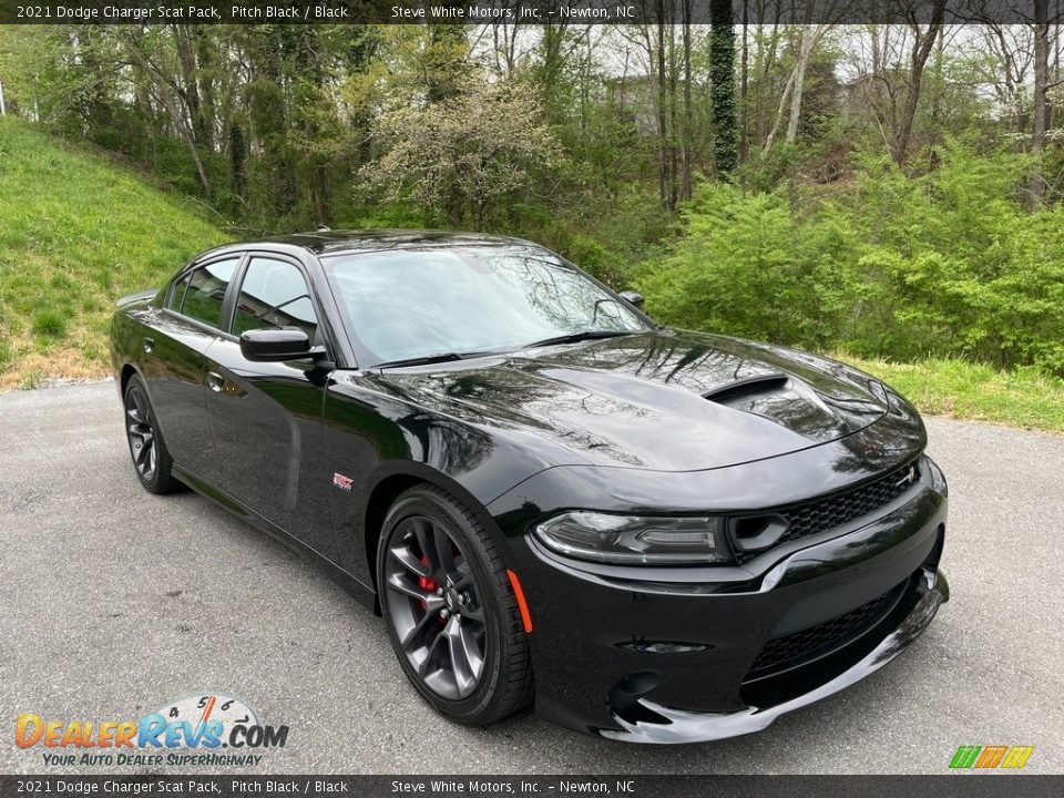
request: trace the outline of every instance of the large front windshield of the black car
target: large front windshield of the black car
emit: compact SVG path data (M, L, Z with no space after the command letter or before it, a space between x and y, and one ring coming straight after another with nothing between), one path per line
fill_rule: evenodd
M649 328L625 303L544 249L392 250L323 263L364 368Z

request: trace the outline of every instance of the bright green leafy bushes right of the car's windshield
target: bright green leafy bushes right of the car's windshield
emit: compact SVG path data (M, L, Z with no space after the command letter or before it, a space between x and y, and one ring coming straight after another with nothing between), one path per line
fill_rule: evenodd
M1064 208L1025 206L1029 168L951 144L925 175L864 160L819 195L705 185L682 237L635 282L679 326L1064 374Z

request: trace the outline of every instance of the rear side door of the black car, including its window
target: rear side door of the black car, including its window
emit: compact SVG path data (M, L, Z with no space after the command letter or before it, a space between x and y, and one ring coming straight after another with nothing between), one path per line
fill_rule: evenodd
M219 471L207 419L207 351L239 264L241 255L231 254L175 279L142 341L141 374L166 448L174 462L208 482Z

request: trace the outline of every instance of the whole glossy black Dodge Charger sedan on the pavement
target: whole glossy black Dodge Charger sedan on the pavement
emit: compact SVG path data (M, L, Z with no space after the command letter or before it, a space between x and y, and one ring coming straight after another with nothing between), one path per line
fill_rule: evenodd
M212 249L114 316L135 472L321 563L449 718L761 729L948 600L945 480L878 380L641 303L512 238Z

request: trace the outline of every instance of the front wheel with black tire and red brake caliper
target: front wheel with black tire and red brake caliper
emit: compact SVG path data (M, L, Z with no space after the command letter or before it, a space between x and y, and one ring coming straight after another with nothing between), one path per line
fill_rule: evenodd
M436 542L441 533L453 546ZM440 714L482 726L531 702L529 640L505 566L483 524L453 497L418 485L396 500L377 548L377 584L399 663ZM470 682L477 654L481 667Z

